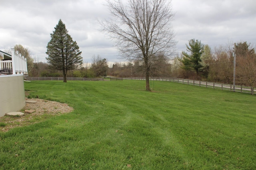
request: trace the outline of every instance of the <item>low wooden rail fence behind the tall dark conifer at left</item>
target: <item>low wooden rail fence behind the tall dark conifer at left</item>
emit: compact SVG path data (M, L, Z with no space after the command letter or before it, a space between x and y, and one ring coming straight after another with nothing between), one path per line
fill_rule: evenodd
M63 77L26 77L25 80L63 80ZM104 81L104 78L67 77L67 80Z

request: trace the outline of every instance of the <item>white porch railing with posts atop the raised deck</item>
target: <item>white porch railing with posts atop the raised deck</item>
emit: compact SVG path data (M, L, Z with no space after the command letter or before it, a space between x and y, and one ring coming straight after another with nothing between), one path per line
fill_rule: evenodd
M28 74L27 59L11 48L12 60L0 61L0 70L12 71L12 74Z

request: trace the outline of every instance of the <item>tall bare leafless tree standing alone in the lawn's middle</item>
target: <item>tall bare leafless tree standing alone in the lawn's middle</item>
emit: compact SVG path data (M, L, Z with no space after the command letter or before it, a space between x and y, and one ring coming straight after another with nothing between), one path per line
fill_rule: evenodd
M107 0L112 19L100 22L102 31L116 41L121 57L143 61L146 90L152 57L164 53L170 57L176 41L171 21L171 0Z

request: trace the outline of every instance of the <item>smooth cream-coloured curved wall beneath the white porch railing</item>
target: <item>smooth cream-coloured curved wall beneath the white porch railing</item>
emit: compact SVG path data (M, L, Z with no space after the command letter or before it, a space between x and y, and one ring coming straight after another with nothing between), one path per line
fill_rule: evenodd
M25 105L23 74L0 75L0 117L18 111Z

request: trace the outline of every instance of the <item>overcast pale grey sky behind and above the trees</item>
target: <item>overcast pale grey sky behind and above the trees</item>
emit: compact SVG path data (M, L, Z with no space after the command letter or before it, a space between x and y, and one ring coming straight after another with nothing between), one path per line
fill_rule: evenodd
M0 50L16 44L27 47L33 58L46 62L50 33L61 19L78 43L84 63L100 55L122 62L114 43L97 29L96 18L109 16L105 0L0 0ZM256 45L256 0L172 0L177 53L190 39L212 49L247 41Z

